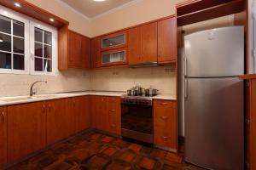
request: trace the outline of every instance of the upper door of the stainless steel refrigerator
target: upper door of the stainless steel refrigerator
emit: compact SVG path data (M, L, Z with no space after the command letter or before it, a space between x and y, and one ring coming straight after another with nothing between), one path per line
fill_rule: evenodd
M184 44L185 77L243 75L243 26L195 32L184 37Z

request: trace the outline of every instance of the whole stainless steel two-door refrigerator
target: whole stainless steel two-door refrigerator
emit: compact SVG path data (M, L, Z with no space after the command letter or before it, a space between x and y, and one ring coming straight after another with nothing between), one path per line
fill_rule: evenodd
M185 161L244 169L244 28L184 37Z

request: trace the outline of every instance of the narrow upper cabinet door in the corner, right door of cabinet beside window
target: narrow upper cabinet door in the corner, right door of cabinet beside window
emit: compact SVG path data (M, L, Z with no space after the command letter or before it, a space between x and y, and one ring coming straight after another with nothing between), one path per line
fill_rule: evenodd
M90 69L90 38L81 38L81 68Z

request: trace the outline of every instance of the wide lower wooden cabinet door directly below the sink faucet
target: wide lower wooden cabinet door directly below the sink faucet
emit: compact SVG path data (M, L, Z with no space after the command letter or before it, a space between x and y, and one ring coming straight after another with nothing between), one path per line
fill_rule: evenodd
M46 145L44 102L8 107L8 161L27 156Z

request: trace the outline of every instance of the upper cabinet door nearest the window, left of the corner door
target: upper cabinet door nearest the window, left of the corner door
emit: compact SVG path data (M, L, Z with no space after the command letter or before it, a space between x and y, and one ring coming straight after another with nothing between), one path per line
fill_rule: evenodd
M68 31L68 67L78 68L81 64L82 38L73 31Z

